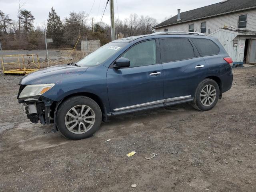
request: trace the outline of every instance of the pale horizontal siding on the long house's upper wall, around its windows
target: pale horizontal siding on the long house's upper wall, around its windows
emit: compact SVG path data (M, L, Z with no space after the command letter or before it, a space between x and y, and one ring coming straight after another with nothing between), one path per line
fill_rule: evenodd
M237 28L238 15L247 14L247 26L244 29L256 31L256 10L249 10L239 13L228 14L224 16L218 16L214 18L208 18L204 20L198 20L194 22L187 22L184 24L177 24L173 26L165 26L162 28L157 28L156 32L164 31L168 28L168 31L188 31L188 25L194 24L194 31L200 32L200 22L206 21L206 34L208 34L208 29L210 33L223 28L224 25L230 27L233 26Z

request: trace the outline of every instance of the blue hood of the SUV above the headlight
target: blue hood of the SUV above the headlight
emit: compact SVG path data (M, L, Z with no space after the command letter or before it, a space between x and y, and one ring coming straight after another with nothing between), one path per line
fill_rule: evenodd
M20 79L19 84L58 83L58 81L62 81L64 78L83 74L87 69L88 67L77 67L68 64L52 66L25 75Z

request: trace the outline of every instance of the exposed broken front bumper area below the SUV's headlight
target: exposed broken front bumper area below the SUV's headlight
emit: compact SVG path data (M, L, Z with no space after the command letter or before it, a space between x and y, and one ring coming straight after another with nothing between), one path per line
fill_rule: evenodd
M54 112L51 110L53 101L40 96L38 99L20 99L18 102L32 123L38 123L39 121L43 125L54 123Z

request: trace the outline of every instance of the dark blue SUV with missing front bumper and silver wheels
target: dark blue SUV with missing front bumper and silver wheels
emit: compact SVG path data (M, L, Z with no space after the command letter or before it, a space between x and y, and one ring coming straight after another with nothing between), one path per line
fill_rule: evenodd
M108 116L190 102L213 108L232 86L232 59L210 36L156 32L112 41L77 63L20 80L18 102L33 123L69 139L91 136Z

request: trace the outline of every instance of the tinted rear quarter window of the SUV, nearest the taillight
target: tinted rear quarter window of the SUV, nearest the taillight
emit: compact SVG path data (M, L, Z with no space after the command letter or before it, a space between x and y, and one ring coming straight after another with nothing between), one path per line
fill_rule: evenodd
M217 55L220 48L210 39L191 38L201 56Z

